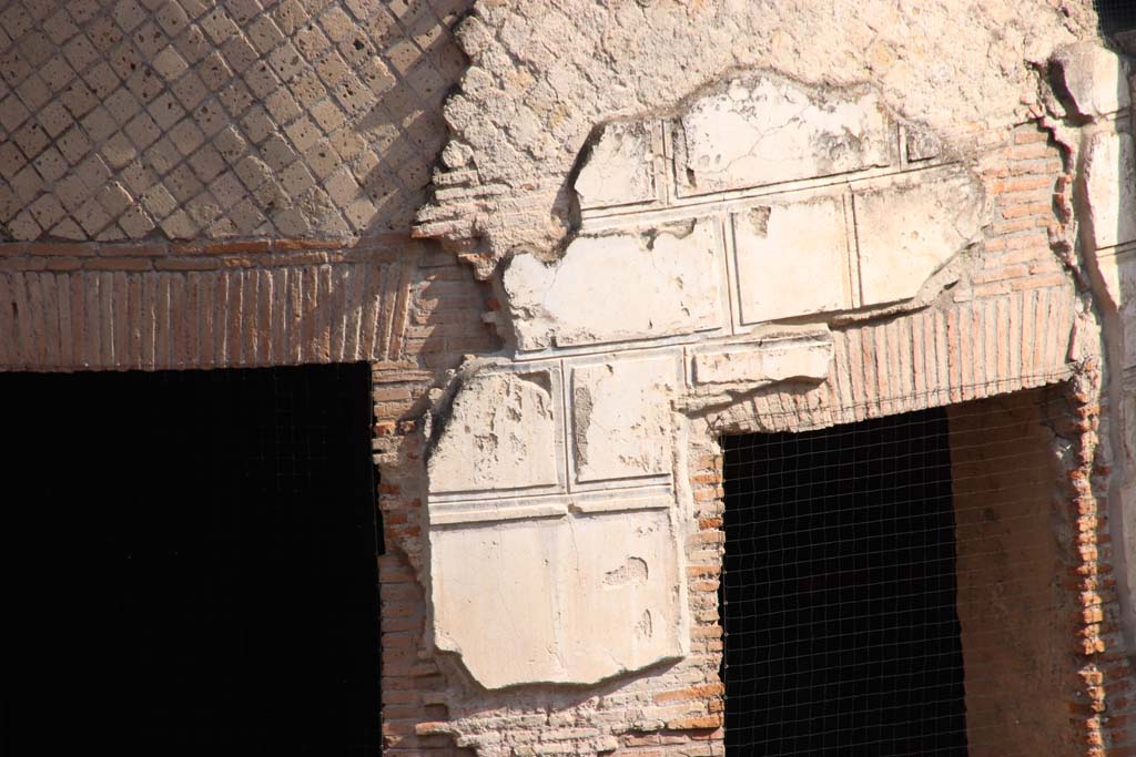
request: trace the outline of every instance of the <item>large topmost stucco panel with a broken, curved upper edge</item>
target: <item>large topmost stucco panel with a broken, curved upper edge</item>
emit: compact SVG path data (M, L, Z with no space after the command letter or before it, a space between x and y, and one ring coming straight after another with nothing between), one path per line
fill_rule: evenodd
M676 175L690 194L888 166L895 150L874 92L819 92L767 74L695 100L679 124Z

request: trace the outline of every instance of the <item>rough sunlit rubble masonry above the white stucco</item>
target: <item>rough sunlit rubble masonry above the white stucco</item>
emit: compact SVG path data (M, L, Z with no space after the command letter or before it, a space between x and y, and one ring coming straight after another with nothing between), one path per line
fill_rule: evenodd
M736 0L478 3L459 34L470 68L445 108L452 149L418 233L479 239L482 249L470 251L483 275L518 246L556 250L571 227L563 177L593 127L663 111L732 68L775 70L825 95L871 82L902 120L969 142L987 126L1036 112L1029 61L1043 64L1059 45L1093 35L1094 24L1088 3L1058 0L978 3L966 14L950 0L840 0L824 10ZM928 53L945 40L949 53ZM818 112L842 127L879 124L859 115L845 121L827 107ZM879 149L842 138L833 137L835 152L805 161L846 168L884 160ZM925 144L911 143L917 153ZM749 145L718 150L738 146ZM636 187L646 191L642 180ZM588 191L595 196L594 183Z

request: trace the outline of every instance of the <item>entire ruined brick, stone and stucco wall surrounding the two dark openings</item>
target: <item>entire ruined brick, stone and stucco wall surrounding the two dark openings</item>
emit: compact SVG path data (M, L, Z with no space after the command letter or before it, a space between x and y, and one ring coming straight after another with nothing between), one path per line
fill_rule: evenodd
M717 439L1069 384L1045 725L1127 754L1091 5L14 0L0 369L371 362L408 756L721 754Z

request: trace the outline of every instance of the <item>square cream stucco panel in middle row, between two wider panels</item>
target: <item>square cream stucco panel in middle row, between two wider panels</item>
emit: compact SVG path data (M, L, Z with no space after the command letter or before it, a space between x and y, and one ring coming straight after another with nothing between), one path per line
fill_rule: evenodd
M853 306L840 195L732 216L743 323Z

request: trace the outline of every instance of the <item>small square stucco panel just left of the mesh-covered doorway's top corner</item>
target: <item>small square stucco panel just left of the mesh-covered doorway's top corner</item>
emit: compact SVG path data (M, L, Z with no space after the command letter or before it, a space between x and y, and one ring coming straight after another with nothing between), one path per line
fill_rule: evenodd
M659 476L671 466L677 361L611 359L571 372L577 481Z

